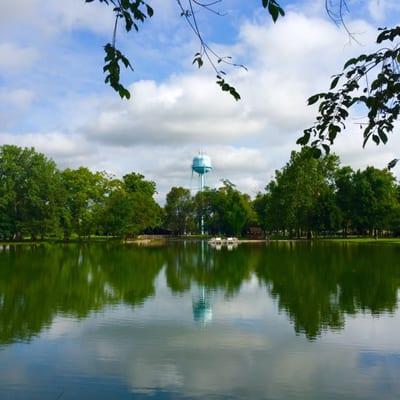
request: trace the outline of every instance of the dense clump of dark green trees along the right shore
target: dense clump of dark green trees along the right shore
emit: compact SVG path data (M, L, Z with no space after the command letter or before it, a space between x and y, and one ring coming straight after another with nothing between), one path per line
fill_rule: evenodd
M378 236L396 232L398 185L387 170L339 167L335 155L315 158L312 148L290 161L254 201L260 225L283 236L309 238L351 231ZM397 222L396 222L397 221Z

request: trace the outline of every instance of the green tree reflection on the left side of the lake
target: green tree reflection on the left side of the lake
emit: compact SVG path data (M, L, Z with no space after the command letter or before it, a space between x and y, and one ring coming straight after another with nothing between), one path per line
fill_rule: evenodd
M157 249L10 246L0 253L0 344L29 340L55 315L86 317L107 304L140 305L154 294Z

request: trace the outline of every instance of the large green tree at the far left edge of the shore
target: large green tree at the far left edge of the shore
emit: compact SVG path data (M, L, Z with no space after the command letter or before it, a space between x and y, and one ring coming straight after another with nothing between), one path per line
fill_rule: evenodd
M54 161L33 148L0 147L0 236L35 239L57 231L60 180Z

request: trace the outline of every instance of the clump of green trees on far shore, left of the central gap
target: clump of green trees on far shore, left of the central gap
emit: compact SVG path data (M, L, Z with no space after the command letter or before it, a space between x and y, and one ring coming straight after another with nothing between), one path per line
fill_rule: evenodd
M57 170L34 149L0 147L0 239L137 235L161 224L156 185L88 168Z

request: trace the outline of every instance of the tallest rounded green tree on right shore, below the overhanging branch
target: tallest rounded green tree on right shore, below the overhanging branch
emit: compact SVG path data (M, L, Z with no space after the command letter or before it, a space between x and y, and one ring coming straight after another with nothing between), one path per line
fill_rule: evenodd
M307 237L312 231L336 229L338 210L330 199L334 193L337 156L315 159L312 149L293 151L289 162L266 187L266 226L271 231L288 231Z

